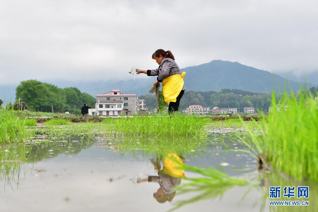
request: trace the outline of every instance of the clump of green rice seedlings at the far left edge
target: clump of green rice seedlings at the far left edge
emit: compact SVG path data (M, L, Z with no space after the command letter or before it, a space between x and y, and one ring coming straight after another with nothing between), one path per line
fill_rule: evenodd
M25 129L25 120L21 120L14 111L0 110L0 144L24 142L32 134Z

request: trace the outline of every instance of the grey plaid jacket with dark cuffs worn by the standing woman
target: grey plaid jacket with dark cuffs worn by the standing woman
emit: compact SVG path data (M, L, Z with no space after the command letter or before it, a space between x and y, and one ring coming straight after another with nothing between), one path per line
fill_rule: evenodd
M171 58L164 58L159 67L154 70L147 70L148 76L158 76L157 80L162 82L162 80L166 79L167 77L175 74L180 74L180 68L176 64L176 62ZM186 87L183 85L182 91L187 90Z

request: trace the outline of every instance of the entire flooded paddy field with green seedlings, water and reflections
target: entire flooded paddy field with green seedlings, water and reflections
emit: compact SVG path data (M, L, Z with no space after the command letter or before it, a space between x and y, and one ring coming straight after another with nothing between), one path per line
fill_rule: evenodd
M318 113L307 99L287 98L286 111L273 103L268 117L249 121L37 124L0 113L1 211L318 211ZM303 196L286 196L287 187Z

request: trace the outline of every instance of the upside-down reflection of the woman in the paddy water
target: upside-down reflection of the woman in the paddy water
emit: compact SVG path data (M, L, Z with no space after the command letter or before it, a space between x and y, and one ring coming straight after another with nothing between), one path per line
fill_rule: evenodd
M178 169L180 163L183 163L181 157L175 153L169 153L163 160L163 168L161 169L160 160L150 160L158 171L158 176L149 176L148 179L137 180L137 183L141 182L158 182L160 188L154 193L154 198L160 203L164 203L167 200L171 202L176 195L173 190L176 186L181 184L182 177L184 176L184 169ZM178 161L178 162L176 162Z

